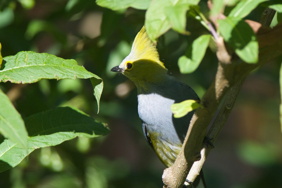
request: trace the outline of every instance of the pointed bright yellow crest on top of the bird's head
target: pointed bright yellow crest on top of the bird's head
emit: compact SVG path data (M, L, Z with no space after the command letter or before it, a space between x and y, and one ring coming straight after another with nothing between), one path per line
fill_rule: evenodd
M136 35L129 56L134 60L148 59L155 61L164 67L164 63L160 61L156 45L148 37L145 26Z

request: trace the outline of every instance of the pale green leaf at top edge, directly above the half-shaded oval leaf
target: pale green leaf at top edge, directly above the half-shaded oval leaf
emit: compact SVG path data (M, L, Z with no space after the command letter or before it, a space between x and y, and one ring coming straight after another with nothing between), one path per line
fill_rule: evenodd
M250 12L259 5L259 3L264 1L269 0L242 0L232 9L228 17L243 18L250 14Z

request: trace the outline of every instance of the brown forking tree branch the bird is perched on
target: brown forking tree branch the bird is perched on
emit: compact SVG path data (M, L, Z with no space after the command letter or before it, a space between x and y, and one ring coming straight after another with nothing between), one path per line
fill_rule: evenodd
M172 167L169 167L168 169L165 169L164 171L164 187L182 187L193 163L193 166L196 166L197 168L191 169L191 176L189 175L188 180L193 181L196 178L196 176L199 174L204 160L206 159L207 154L211 149L202 147L202 140L204 139L207 127L211 119L213 118L213 115L215 114L223 96L231 86L237 84L232 90L230 90L226 101L224 102L220 111L221 115L217 116L208 134L209 138L213 138L213 143L230 114L230 111L235 103L235 99L237 98L237 95L241 89L241 85L244 82L245 76L255 68L268 63L272 59L282 54L281 36L278 37L278 39L275 36L276 41L274 41L274 43L272 44L270 44L269 41L265 41L267 40L266 36L271 35L273 32L276 33L278 31L281 33L282 26L277 26L273 30L266 31L263 28L260 28L260 30L261 32L259 32L259 30L257 31L257 37L260 48L264 48L260 50L259 62L257 64L241 63L233 67L232 62L230 61L231 59L229 60L228 58L229 54L227 53L228 55L226 56L226 49L221 48L221 39L217 41L218 51L220 51L217 52L217 56L220 62L217 69L215 81L211 84L201 100L201 105L204 108L197 109L191 119L186 138L182 145L182 149L174 165ZM221 57L224 56L219 55L220 53L225 54L225 57L227 58L222 59ZM201 159L201 161L198 161L199 159Z

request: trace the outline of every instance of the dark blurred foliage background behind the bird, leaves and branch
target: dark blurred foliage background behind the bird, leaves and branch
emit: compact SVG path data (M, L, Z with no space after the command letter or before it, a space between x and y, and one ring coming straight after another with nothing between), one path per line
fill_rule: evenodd
M22 2L22 3L19 3ZM201 10L207 13L206 2ZM76 138L55 147L37 149L17 167L0 173L0 187L162 187L164 165L143 138L135 85L110 72L130 52L144 25L144 10L113 12L90 0L26 0L0 3L2 56L19 51L47 52L76 59L104 80L100 113L89 79L41 80L33 84L0 83L22 117L58 106L73 106L109 124L100 138ZM228 12L228 8L226 12ZM263 7L248 19L259 21ZM214 78L217 59L210 45L200 67L181 75L178 58L207 30L188 19L190 36L172 30L158 41L160 59L172 76L201 97ZM206 163L208 187L282 187L279 125L281 59L253 71Z

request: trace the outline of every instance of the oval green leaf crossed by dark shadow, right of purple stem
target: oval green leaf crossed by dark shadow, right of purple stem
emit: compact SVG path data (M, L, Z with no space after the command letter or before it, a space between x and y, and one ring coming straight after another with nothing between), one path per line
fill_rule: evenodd
M259 44L252 28L240 18L226 17L218 20L224 40L246 63L257 63Z

